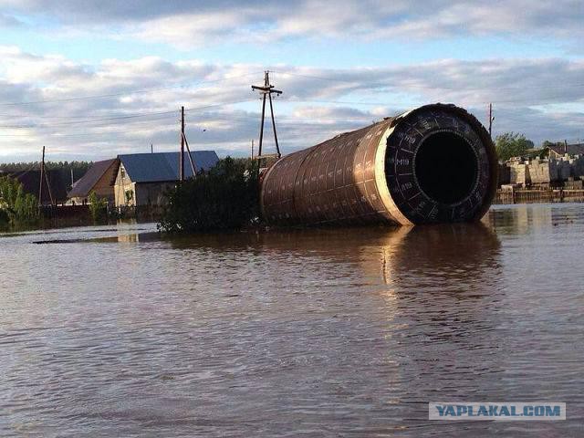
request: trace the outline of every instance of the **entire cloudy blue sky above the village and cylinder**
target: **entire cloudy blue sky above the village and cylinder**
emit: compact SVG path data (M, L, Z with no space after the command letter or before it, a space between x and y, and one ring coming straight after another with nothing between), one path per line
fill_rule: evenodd
M433 102L584 141L581 0L0 0L0 162L246 156L264 71L283 153ZM274 151L266 123L265 151Z

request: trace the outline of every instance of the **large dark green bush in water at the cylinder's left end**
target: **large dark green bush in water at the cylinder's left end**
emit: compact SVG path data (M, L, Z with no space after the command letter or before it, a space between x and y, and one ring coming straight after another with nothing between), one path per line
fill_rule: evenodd
M209 172L179 183L159 228L168 233L239 230L259 216L257 166L227 157Z

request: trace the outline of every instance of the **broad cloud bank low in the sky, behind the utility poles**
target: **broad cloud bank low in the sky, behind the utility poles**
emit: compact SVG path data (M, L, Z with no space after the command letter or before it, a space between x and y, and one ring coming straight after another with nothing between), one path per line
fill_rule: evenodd
M246 154L258 133L260 103L250 84L262 67L161 57L97 64L0 47L0 161L99 159L130 151L168 151L187 110L193 148ZM424 103L454 102L485 120L495 105L495 134L522 131L539 142L576 141L584 121L584 61L439 60L390 68L276 66L284 94L275 100L284 151L327 140ZM86 99L91 97L91 99ZM269 141L271 127L266 123Z

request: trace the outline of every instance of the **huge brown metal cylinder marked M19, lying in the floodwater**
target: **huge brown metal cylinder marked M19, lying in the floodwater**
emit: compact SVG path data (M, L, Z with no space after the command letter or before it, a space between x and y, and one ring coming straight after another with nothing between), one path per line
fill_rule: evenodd
M268 224L430 224L474 221L496 190L483 125L433 104L291 153L263 178Z

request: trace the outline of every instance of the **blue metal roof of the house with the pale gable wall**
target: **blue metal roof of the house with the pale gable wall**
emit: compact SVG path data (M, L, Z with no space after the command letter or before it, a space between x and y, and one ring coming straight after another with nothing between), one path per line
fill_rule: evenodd
M133 183L156 183L179 179L179 155L181 152L129 153L118 155ZM215 151L192 151L197 172L208 171L218 161ZM188 152L184 152L184 177L193 176Z

